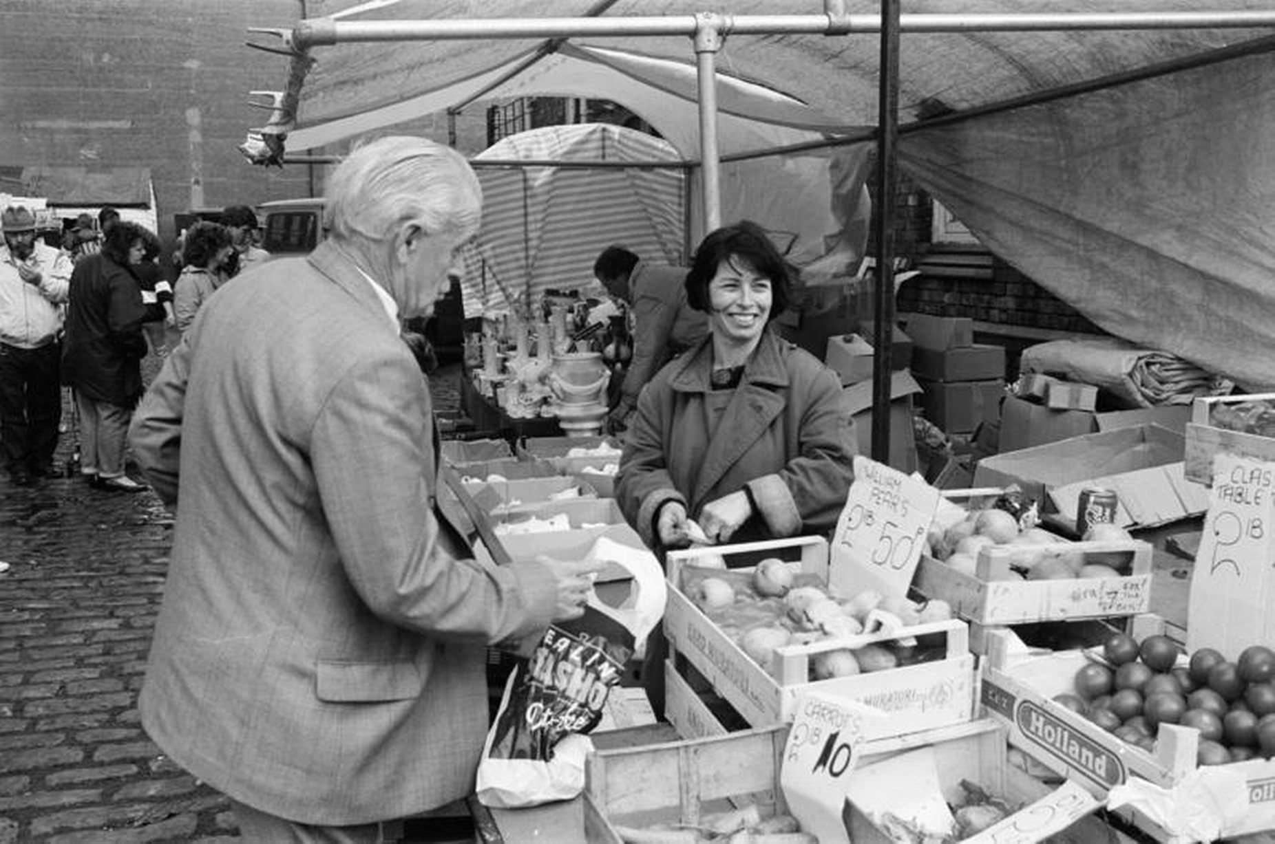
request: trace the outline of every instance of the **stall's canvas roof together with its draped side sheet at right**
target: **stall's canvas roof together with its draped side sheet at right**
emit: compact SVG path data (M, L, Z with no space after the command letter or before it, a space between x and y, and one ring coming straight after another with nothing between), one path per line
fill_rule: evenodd
M858 127L877 118L878 27L871 15L880 5L830 5L844 11L838 20L848 22L848 32L728 32L717 66L782 92L784 115L762 122L864 140ZM1021 15L1040 5L905 5L900 167L998 255L1102 327L1244 386L1275 386L1275 106L1265 95L1275 81L1275 4L1214 0L1201 9L1198 0L1079 0L1066 14L1035 22ZM320 9L337 20L493 24L706 10L819 15L825 8L812 0L719 0L710 9L687 0L400 0ZM496 39L483 50L459 39L319 46L316 65L298 59L287 76L296 109L280 112L283 143L293 151L339 144L422 108L463 107L479 92L519 95L530 88L525 80L555 73L552 61L570 52L565 43L691 65L681 36ZM502 70L505 62L513 65ZM622 74L648 81L631 67ZM650 87L660 89L658 81ZM729 113L732 94L724 87L719 93ZM609 98L634 108L622 94ZM719 136L734 137L725 118ZM724 174L723 183L732 178Z

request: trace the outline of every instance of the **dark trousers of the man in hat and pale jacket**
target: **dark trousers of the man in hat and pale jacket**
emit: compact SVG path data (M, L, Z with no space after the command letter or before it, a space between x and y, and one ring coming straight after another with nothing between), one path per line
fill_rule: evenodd
M54 462L62 420L61 355L60 342L40 349L0 342L0 453L10 472Z

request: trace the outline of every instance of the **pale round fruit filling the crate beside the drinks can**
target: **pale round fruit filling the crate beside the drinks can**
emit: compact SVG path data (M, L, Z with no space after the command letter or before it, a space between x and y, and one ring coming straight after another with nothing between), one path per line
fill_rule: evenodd
M1094 524L1082 537L1085 542L1130 540L1128 531L1117 524ZM1111 578L1127 573L1133 561L1132 551L1074 551L1068 540L1043 527L1023 527L1010 510L988 507L961 513L940 512L926 537L926 554L952 569L977 577L978 554L986 546L1012 549L1010 569L997 579L1060 580L1074 578ZM994 577L994 575L993 575Z

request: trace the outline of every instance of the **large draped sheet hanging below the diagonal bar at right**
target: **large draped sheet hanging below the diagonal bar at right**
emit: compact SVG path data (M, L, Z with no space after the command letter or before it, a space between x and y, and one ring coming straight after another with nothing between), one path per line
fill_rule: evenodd
M1112 334L1275 388L1275 57L900 140L993 252Z

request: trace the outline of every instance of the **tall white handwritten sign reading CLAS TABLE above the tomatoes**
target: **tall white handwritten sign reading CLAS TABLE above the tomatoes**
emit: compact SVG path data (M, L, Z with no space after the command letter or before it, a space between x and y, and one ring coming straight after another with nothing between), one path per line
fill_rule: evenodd
M1187 649L1228 659L1251 644L1275 647L1275 463L1214 457L1209 512L1191 574Z

